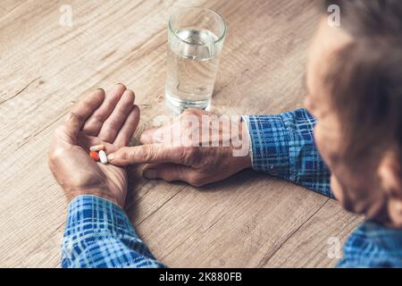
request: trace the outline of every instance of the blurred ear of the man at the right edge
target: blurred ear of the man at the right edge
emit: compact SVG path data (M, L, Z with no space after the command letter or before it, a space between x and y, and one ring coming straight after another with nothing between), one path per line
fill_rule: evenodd
M402 228L402 166L397 152L388 152L379 165L382 191L388 197L391 224Z

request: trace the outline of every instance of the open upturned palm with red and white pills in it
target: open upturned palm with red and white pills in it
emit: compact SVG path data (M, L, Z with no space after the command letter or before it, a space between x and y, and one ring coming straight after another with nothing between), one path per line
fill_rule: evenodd
M127 174L121 167L94 162L88 148L104 144L106 153L125 147L138 126L134 93L116 85L105 96L97 89L82 99L54 132L49 167L70 200L80 195L107 198L123 207Z

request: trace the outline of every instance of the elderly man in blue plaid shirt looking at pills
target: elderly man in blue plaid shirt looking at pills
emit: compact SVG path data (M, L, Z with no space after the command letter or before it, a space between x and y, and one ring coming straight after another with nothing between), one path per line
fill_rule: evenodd
M252 167L334 196L367 218L350 235L339 266L402 267L402 3L338 0L325 6L331 3L341 6L343 26L331 29L322 20L318 29L306 77L308 112L243 116L230 122L236 128L224 130L212 127L214 119L202 126L210 114L190 110L144 132L142 146L128 147L139 121L132 91L117 85L80 101L56 130L49 153L54 177L71 200L62 265L163 266L122 210L124 166L147 163L148 179L200 186ZM180 134L218 128L219 135L172 144L163 135L188 116L199 124L184 124ZM224 138L240 139L251 152L233 156L239 146L222 144ZM88 156L97 144L105 145L110 164Z

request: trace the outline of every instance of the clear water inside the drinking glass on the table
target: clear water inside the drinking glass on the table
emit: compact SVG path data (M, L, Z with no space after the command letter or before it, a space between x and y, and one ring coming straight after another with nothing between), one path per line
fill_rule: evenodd
M169 38L165 96L180 114L188 107L205 109L211 101L218 71L218 38L209 30L180 29ZM192 44L192 45L188 45Z

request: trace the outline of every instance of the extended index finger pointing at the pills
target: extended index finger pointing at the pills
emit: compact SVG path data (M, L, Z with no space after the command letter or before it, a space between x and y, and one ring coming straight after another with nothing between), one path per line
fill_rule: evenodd
M172 147L163 144L147 144L136 147L121 147L109 154L108 160L117 166L144 163L175 163L191 165L197 148Z

